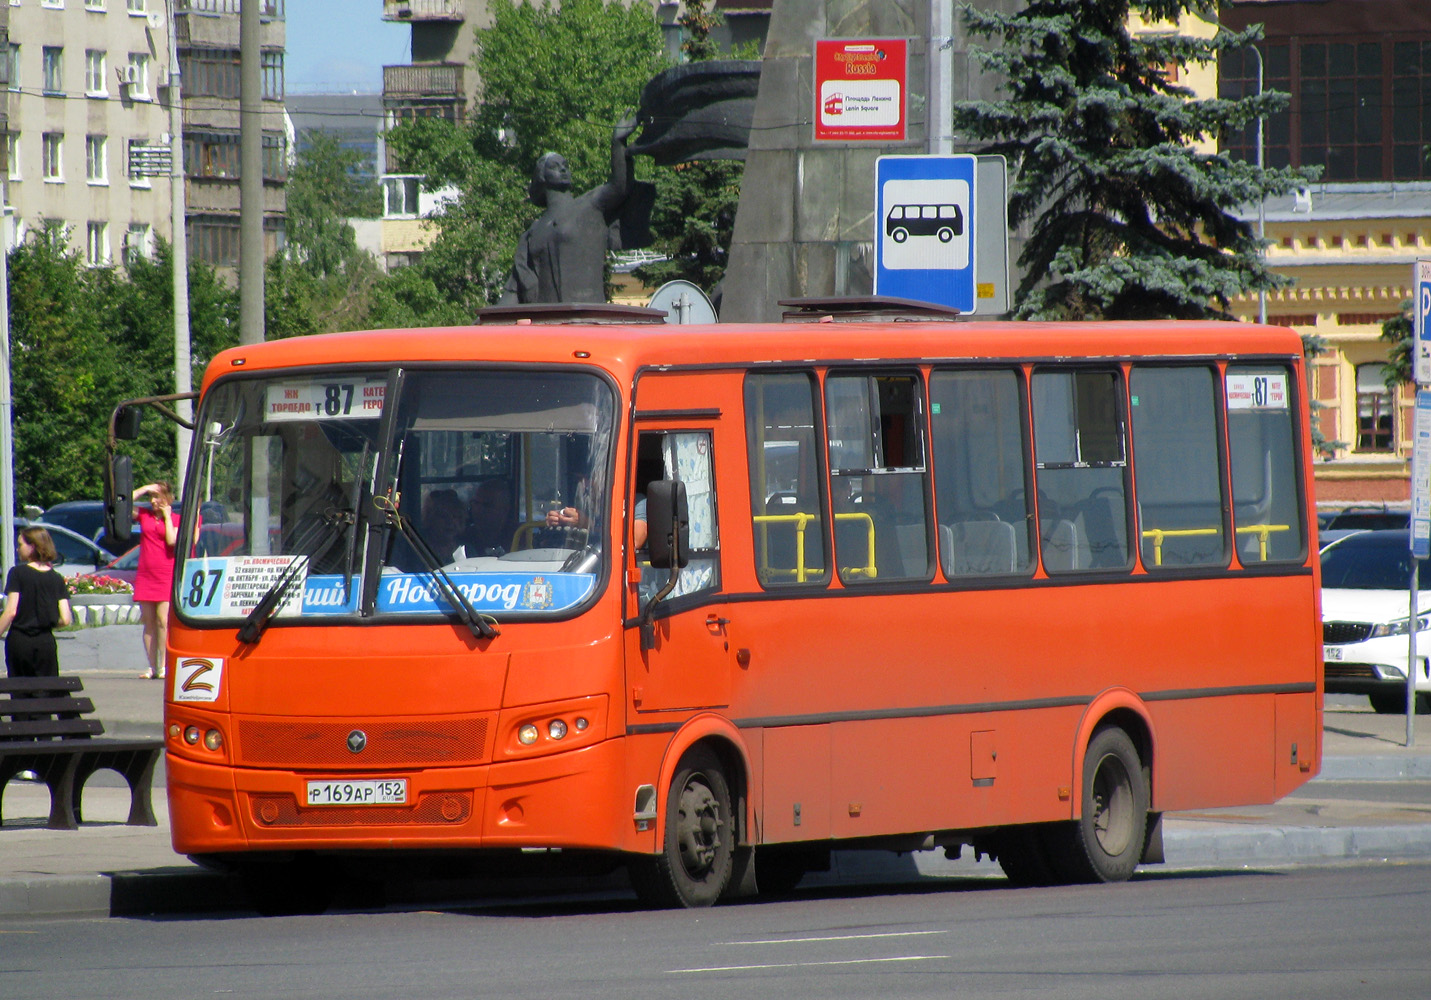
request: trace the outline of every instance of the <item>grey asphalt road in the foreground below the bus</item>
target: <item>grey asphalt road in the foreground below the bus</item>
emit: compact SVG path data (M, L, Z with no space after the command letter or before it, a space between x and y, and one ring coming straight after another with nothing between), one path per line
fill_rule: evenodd
M0 928L7 1000L1296 997L1420 1000L1431 864L1151 874L1123 886L821 890L641 911L624 896L322 917Z

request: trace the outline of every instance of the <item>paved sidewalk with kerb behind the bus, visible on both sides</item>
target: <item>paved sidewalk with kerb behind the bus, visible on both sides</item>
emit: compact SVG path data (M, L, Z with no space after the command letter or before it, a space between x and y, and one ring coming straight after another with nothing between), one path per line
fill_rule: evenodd
M160 685L139 677L145 660L137 625L106 625L59 638L62 670L83 678L107 734L160 735ZM1431 857L1431 717L1417 720L1414 748L1407 750L1404 738L1404 717L1377 715L1364 698L1329 700L1321 777L1272 805L1166 815L1168 866L1241 868ZM162 765L153 805L157 827L124 825L129 790L117 775L100 773L84 791L84 825L49 830L44 785L11 781L0 828L0 920L242 907L230 880L173 853ZM839 851L834 870L809 881L999 873L997 866L976 866L967 856L949 861L940 851Z

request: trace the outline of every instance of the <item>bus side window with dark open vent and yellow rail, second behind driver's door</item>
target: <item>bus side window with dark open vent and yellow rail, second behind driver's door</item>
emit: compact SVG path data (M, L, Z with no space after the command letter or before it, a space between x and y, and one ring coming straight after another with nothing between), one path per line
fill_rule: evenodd
M830 375L824 402L840 579L929 579L920 379Z

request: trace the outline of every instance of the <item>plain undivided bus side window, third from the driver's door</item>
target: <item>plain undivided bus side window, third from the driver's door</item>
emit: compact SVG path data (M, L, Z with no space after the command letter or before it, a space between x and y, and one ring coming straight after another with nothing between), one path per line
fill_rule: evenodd
M1012 371L934 372L929 379L946 577L1027 572L1032 565L1019 381Z

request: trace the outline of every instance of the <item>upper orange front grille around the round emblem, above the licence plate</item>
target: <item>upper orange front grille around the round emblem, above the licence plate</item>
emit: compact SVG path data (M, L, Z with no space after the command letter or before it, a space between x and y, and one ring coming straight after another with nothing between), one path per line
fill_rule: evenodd
M362 730L368 745L348 750ZM487 760L487 720L348 720L343 722L239 721L239 764L270 767L418 767L481 764Z

